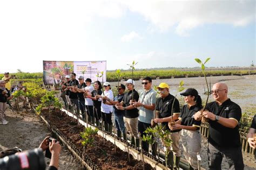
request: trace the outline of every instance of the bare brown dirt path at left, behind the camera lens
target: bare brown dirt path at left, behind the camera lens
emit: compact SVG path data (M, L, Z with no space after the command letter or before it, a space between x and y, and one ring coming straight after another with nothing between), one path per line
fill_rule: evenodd
M31 113L16 114L6 110L7 125L0 125L0 151L18 146L23 151L36 148L51 132L39 119ZM45 158L47 165L50 159ZM72 159L71 154L62 147L59 158L59 169L82 169L78 162Z

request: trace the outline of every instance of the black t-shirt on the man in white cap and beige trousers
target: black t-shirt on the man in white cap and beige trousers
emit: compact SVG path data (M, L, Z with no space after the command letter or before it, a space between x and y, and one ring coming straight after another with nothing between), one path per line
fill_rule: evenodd
M127 107L130 105L130 100L132 100L132 90L124 94L124 98L123 98L124 107ZM133 100L136 100L136 102L139 101L139 94L135 89L133 89ZM131 110L125 110L125 117L126 118L139 117L139 110L137 108L134 108Z

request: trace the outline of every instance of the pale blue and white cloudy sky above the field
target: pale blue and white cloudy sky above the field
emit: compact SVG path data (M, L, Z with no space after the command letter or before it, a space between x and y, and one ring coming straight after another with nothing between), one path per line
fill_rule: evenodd
M43 60L107 70L250 66L256 1L0 1L0 73L43 72Z

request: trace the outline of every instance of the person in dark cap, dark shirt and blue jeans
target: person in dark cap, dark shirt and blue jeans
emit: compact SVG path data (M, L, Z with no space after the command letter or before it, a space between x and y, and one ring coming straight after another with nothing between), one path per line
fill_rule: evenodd
M106 99L106 104L109 105L114 105L114 123L116 124L117 128L117 137L121 138L122 133L123 133L123 138L126 140L126 132L125 132L125 125L124 125L124 115L125 111L124 110L118 110L115 105L119 105L124 98L124 91L125 91L125 86L124 84L120 84L118 88L118 95L114 97L113 100L110 100L105 96Z

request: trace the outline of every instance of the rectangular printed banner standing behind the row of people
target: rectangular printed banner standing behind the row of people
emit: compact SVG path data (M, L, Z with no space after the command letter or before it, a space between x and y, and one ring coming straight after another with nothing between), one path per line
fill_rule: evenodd
M58 86L66 75L76 73L76 79L79 76L90 78L92 81L106 81L106 61L43 61L43 81L44 84L55 84Z

